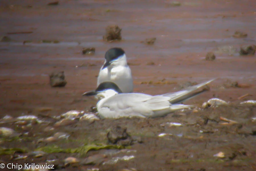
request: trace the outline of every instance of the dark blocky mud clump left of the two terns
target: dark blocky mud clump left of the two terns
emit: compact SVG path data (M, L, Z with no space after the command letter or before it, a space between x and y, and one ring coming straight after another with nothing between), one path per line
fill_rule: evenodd
M67 84L64 71L53 72L50 74L50 85L52 87L64 87Z

